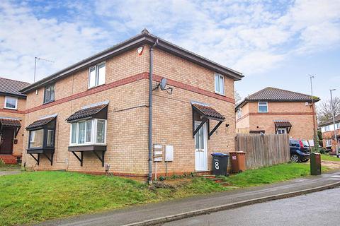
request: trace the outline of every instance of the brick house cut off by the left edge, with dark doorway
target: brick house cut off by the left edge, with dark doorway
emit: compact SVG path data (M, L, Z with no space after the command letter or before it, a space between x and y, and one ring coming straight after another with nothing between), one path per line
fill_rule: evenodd
M0 78L0 161L6 164L21 160L26 95L19 90L27 85L29 83Z

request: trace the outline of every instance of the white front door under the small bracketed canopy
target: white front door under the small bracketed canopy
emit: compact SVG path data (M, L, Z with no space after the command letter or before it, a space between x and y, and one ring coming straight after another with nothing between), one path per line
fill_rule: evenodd
M195 122L195 129L200 125L200 121ZM207 150L207 126L206 123L200 127L195 134L195 169L196 171L208 170L208 150Z

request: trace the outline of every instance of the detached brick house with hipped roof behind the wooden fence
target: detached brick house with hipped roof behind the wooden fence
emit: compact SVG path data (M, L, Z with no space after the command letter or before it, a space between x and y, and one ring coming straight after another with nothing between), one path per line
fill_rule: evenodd
M237 133L289 133L312 140L317 128L314 108L310 95L264 88L235 107Z

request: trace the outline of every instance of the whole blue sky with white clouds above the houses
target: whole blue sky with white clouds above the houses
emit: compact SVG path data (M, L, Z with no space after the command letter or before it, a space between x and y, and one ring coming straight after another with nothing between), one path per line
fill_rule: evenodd
M6 1L0 76L33 82L147 28L244 73L242 97L273 86L340 96L340 1Z

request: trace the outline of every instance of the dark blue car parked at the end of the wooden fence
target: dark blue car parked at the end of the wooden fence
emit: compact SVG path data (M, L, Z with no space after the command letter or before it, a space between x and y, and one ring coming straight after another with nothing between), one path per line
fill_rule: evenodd
M310 143L302 139L289 139L290 161L307 162L310 159Z

